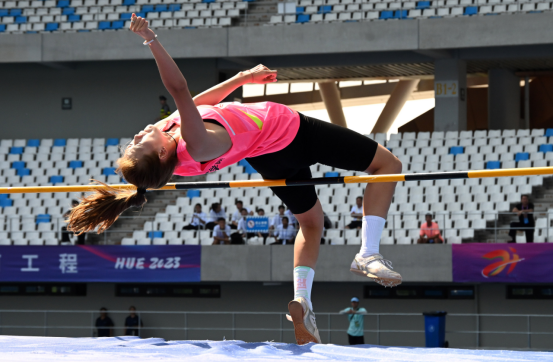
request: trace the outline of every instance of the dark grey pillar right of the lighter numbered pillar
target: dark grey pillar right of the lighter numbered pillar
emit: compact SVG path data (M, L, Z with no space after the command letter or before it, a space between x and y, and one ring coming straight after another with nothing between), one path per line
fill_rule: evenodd
M520 117L520 78L507 69L491 69L488 78L488 128L523 128L524 122Z

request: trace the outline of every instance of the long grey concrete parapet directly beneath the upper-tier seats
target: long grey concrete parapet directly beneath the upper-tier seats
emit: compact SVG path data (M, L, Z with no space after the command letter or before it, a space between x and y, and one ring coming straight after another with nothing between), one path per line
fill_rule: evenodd
M157 32L176 58L257 57L550 44L553 33L543 29L552 19L552 13L511 14ZM148 59L140 43L120 31L1 35L0 63Z

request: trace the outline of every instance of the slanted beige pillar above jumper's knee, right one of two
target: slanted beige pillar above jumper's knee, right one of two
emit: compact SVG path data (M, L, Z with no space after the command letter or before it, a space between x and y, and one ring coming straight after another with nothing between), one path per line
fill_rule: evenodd
M388 102L386 102L386 106L384 106L382 113L378 116L378 120L371 133L380 132L385 134L390 130L397 115L399 115L403 106L405 106L405 102L407 102L413 91L417 88L419 82L419 79L408 79L399 81L396 84Z

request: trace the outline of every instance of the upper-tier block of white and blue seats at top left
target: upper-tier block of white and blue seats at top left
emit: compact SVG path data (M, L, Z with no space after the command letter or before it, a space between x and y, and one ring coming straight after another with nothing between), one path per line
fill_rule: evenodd
M90 32L127 29L132 13L152 28L231 26L248 1L23 0L0 1L0 33Z

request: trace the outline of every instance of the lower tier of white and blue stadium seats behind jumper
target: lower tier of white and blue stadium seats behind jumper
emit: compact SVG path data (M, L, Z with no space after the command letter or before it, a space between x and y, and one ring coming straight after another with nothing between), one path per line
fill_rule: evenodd
M463 131L368 135L388 147L403 163L405 173L462 171L484 168L553 166L553 130ZM117 184L115 161L125 139L44 139L0 141L0 186L89 184L91 178ZM361 175L326 165L312 167L313 177ZM207 181L261 179L245 161L208 174ZM533 186L543 185L543 177L457 179L400 183L382 235L383 244L412 244L424 214L432 211L447 243L474 241L475 231L486 229L497 214L509 212L521 194L531 194ZM318 187L319 198L334 227L325 232L330 244L359 244L356 230L344 230L350 223L350 210L364 185L347 184ZM0 244L52 245L60 238L63 213L80 194L0 195ZM227 212L243 200L250 208L263 208L271 217L281 203L270 189L214 189L189 191L164 213L144 224L142 231L124 238L123 245L211 244L210 231L184 231L196 203L208 212L214 202ZM553 220L553 209L550 211ZM540 216L541 217L541 216ZM536 241L553 238L547 218L536 222ZM258 240L251 241L259 243ZM269 242L272 242L270 240ZM485 241L479 241L485 242Z

